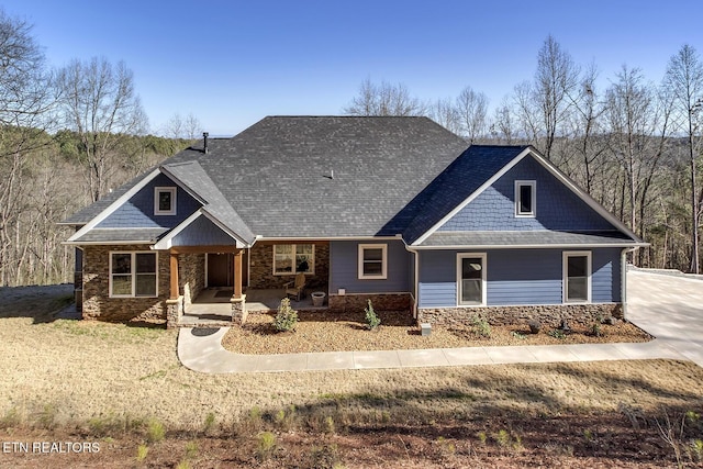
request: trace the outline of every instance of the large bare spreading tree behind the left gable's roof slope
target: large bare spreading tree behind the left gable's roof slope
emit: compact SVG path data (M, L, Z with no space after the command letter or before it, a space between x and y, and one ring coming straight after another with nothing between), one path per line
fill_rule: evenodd
M81 163L91 200L108 190L119 168L115 149L124 135L137 135L147 126L134 78L124 63L105 58L72 60L58 72L58 89L66 125L80 136Z

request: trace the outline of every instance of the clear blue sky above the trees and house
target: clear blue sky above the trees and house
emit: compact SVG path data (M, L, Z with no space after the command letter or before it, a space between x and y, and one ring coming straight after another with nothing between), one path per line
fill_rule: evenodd
M52 66L124 60L156 131L193 113L211 135L265 115L338 114L362 80L421 99L466 86L491 105L533 77L548 34L605 87L623 64L659 81L683 44L703 53L703 2L5 0ZM698 24L696 24L698 23Z

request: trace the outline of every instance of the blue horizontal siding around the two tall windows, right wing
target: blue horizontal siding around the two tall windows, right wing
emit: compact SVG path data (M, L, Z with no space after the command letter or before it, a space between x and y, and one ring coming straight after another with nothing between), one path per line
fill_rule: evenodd
M620 249L590 250L592 253L592 302L618 303L621 301ZM457 253L470 252L423 250L420 253L420 308L457 305ZM487 250L487 305L561 304L563 252L565 249Z

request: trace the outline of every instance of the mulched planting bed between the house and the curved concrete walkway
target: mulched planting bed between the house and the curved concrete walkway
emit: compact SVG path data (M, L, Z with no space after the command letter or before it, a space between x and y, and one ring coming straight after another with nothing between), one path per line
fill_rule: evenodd
M417 348L490 347L501 345L556 345L647 342L651 336L637 326L618 322L572 326L570 331L542 330L532 334L525 325L484 324L449 327L433 326L429 336L421 336L415 321L406 312L379 313L381 326L366 328L364 314L299 313L294 333L277 333L274 313L249 314L242 327L233 327L222 345L238 354L291 354L309 351L398 350Z

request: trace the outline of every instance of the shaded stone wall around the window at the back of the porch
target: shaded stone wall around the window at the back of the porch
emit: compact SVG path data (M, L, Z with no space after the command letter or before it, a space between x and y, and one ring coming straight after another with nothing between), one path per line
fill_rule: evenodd
M330 243L280 243L280 244L314 244L315 273L305 276L305 289L326 287L330 278ZM293 281L295 275L274 275L274 244L256 243L249 250L249 287L272 289L283 288L283 283Z

